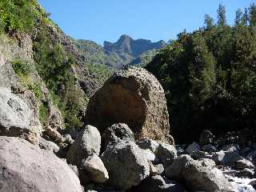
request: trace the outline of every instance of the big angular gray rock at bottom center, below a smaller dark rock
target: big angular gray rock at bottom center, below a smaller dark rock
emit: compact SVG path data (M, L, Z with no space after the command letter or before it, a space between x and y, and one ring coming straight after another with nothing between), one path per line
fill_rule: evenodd
M102 162L109 172L110 186L128 190L150 175L150 166L134 142L119 142L102 154Z

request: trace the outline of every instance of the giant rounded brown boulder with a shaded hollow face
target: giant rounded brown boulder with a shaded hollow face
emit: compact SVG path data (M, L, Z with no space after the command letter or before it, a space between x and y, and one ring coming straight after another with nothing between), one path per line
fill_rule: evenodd
M86 124L105 130L126 123L135 138L173 143L162 86L147 70L130 67L110 77L87 106Z

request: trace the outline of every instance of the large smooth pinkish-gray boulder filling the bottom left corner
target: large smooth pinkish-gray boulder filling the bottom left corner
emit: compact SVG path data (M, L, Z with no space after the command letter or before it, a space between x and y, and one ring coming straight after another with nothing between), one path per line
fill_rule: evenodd
M0 191L82 192L78 176L51 151L0 137Z

